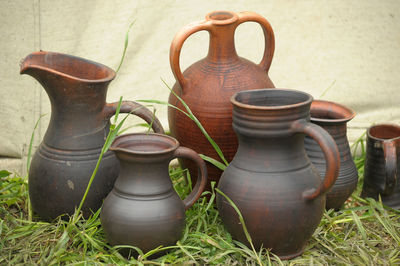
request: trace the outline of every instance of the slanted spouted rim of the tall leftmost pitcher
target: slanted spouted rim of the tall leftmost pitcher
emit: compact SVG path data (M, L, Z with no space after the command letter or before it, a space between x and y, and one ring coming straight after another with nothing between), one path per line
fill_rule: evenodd
M40 64L38 62L35 61L29 61L29 59L33 59L34 57L38 57L38 56L59 56L59 57L65 57L65 58L69 58L72 60L77 60L77 61L81 61L90 65L93 65L95 67L98 67L99 69L104 69L106 70L106 75L104 78L98 78L98 79L89 79L89 78L83 78L83 77L78 77L72 74L68 74L66 72L60 71L60 70L56 70L56 69L52 69L49 66L45 66L45 64ZM81 82L88 82L88 83L102 83L102 82L108 82L111 81L115 78L116 73L115 71L106 66L103 65L101 63L83 58L83 57L79 57L79 56L75 56L75 55L69 55L69 54L64 54L64 53L59 53L59 52L51 52L51 51L37 51L37 52L33 52L30 53L29 55L27 55L20 63L20 74L24 74L27 70L29 69L40 69L40 70L44 70L46 72L49 73L53 73L53 74L57 74L59 76L65 77L65 78L69 78L72 80L76 80L76 81L81 81Z

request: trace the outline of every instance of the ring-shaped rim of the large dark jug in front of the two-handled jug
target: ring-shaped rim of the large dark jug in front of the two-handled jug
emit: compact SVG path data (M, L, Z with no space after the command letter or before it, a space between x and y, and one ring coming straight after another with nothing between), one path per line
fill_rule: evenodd
M242 103L240 102L237 97L240 95L244 94L257 94L257 93L281 93L285 96L287 96L288 93L292 95L297 95L297 96L303 96L305 97L303 101L299 101L296 103L292 104L283 104L283 105L270 105L270 106L260 106L260 105L254 105L254 104L247 104L247 103ZM313 96L307 92L299 91L299 90L294 90L294 89L282 89L282 88L263 88L263 89L252 89L252 90L244 90L235 93L231 97L231 103L234 106L238 106L241 108L246 108L246 109L253 109L253 110L287 110L287 109L292 109L292 108L299 108L303 107L306 105L310 105L311 102L313 101Z

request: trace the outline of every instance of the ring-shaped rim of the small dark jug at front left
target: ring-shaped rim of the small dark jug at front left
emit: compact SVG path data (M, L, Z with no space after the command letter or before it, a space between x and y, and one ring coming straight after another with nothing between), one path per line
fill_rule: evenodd
M133 141L136 141L136 143L143 143L144 140L157 140L158 143L165 143L169 147L163 147L160 148L159 150L150 150L150 151L144 151L144 150L135 150L135 149L129 149L126 147L121 147L124 143L126 146L129 146L129 144L132 145ZM161 141L160 141L161 140ZM162 141L164 140L164 141ZM176 150L179 147L179 141L171 136L164 135L164 134L159 134L159 133L128 133L128 134L123 134L121 136L118 136L115 138L113 143L111 144L109 150L118 152L122 151L125 153L129 154L135 154L135 155L159 155L159 154L167 154L170 153L174 150Z

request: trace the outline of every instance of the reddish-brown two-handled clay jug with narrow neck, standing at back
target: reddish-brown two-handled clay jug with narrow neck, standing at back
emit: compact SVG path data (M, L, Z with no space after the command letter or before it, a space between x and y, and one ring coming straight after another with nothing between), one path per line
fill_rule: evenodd
M239 57L235 50L235 30L247 21L259 23L264 31L265 50L259 64ZM190 35L202 30L210 34L208 55L182 73L179 65L182 45ZM177 81L173 91L190 107L211 138L219 145L228 162L232 160L237 149L229 99L238 91L274 87L268 77L274 48L274 34L270 24L254 12L209 13L204 21L194 22L182 28L172 41L170 63ZM173 94L169 97L169 103L186 111ZM171 134L183 146L221 161L197 125L185 114L169 107L168 120ZM195 173L196 167L193 163L182 160L182 164L190 173ZM208 163L207 169L207 188L210 189L210 182L218 181L222 171Z

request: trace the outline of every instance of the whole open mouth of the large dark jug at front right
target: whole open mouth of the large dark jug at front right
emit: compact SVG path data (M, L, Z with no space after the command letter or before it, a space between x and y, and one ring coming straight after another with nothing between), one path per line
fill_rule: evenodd
M258 89L241 91L231 97L234 106L253 110L286 110L311 104L313 97L289 89Z

